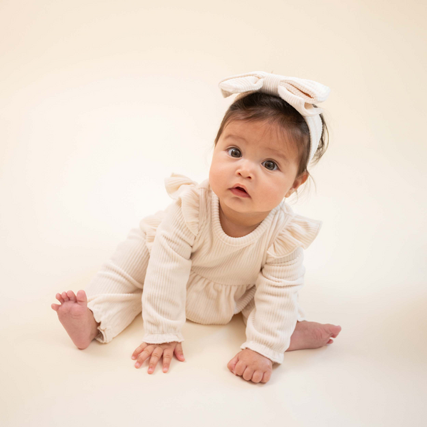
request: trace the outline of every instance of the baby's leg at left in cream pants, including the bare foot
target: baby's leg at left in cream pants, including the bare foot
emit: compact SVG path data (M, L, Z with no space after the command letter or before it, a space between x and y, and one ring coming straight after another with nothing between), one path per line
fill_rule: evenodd
M132 228L126 241L117 246L110 260L86 287L86 292L80 290L76 296L72 291L57 294L61 305L51 307L78 348L88 347L94 338L110 342L141 312L148 261L145 233L140 228Z

